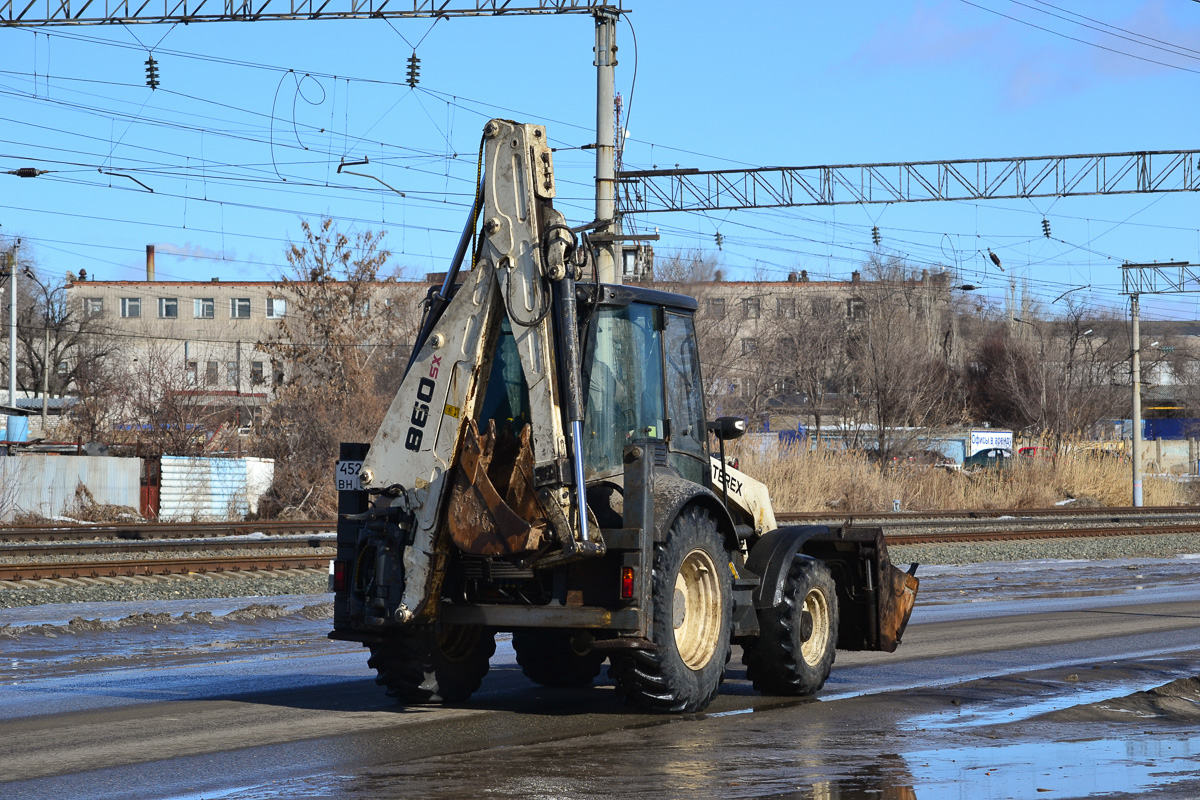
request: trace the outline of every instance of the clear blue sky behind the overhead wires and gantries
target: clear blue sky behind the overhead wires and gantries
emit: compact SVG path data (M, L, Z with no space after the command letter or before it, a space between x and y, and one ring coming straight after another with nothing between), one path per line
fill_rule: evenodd
M1200 2L640 2L618 30L630 168L810 166L1196 146ZM635 35L636 34L636 46ZM404 84L416 46L421 80ZM547 126L558 206L592 219L587 16L0 30L0 234L47 275L274 279L300 219L388 231L445 269L491 116ZM144 85L154 48L161 89ZM636 67L636 83L635 83ZM340 160L370 164L337 175ZM101 172L103 170L103 172ZM106 173L119 173L109 175ZM154 190L150 193L142 184ZM875 247L1002 297L1120 303L1123 260L1200 263L1200 198L920 203L635 217L730 277L846 277ZM1054 239L1042 235L1042 218ZM722 237L716 249L715 234ZM985 261L998 253L1004 272ZM1062 308L1060 302L1057 309ZM1147 315L1200 318L1146 297Z

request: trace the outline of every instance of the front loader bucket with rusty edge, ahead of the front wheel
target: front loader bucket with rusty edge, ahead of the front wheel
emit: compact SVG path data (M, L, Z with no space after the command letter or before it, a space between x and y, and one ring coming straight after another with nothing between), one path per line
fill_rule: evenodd
M917 565L892 564L881 528L834 528L802 552L828 564L838 584L838 649L894 652L917 602Z

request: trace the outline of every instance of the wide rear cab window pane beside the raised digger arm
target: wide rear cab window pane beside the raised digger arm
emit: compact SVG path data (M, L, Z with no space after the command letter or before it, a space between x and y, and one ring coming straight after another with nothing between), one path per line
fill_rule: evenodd
M634 439L664 435L661 312L599 308L583 357L583 464L588 480L622 471Z

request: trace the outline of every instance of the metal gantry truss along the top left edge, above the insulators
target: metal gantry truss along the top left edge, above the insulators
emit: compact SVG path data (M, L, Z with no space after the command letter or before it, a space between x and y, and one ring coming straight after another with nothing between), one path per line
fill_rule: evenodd
M0 26L620 13L583 0L0 0Z

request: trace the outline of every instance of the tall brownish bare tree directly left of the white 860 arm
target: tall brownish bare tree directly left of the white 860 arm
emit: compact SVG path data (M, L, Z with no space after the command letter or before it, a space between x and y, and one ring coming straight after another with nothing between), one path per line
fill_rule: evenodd
M275 363L275 398L259 444L275 458L278 511L332 515L331 464L341 441L370 441L398 383L418 323L412 289L388 272L383 233L301 223L288 247L288 312L258 343ZM390 302L389 302L390 301Z

